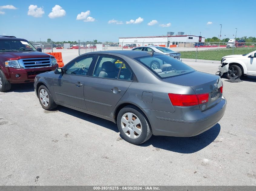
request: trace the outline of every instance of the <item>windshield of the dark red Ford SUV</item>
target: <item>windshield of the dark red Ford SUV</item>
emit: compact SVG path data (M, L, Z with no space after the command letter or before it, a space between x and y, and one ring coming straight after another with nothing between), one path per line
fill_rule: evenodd
M25 40L0 39L0 52L7 51L37 51L32 44Z

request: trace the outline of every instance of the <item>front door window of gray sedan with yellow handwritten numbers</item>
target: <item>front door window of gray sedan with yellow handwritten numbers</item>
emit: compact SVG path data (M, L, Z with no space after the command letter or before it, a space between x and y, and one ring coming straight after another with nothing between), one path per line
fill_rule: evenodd
M94 56L82 57L72 62L66 67L65 74L87 75L93 57Z

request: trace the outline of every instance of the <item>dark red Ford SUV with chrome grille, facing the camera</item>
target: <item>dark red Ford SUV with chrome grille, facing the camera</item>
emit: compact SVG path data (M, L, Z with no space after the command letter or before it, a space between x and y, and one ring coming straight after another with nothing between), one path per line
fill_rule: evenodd
M35 49L25 39L0 36L0 91L11 89L11 84L34 82L35 76L58 68L54 56Z

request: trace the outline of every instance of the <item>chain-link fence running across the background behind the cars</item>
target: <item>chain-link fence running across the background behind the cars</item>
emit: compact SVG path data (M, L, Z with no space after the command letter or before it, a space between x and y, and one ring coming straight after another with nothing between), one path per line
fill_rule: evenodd
M90 42L78 40L78 43L32 42L35 48L42 52L62 52L75 58L78 55L95 51L131 50L141 46L162 46L181 53L183 61L220 62L223 56L233 54L248 54L256 50L256 43L238 42Z

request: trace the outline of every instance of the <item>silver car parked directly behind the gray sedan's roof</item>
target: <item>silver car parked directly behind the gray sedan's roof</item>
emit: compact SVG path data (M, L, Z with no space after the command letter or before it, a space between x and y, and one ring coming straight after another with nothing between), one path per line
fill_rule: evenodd
M182 61L181 59L181 53L177 53L171 49L162 47L162 46L140 46L137 48L134 48L132 50L137 50L137 51L148 51L148 52L156 52L156 53L161 53L161 54L165 54L167 56L171 56L175 59L178 59L180 61ZM152 69L159 69L161 67L161 63L159 62L152 62L151 63L151 68Z

